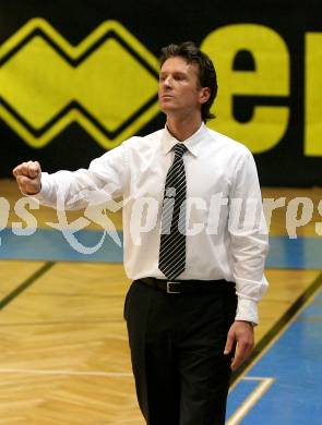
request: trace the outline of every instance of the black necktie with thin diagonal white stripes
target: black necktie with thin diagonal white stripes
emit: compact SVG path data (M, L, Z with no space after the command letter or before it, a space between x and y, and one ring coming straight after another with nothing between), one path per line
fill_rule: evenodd
M175 159L165 185L158 268L169 280L186 268L186 151L183 143L175 145Z

